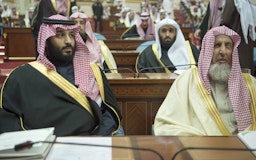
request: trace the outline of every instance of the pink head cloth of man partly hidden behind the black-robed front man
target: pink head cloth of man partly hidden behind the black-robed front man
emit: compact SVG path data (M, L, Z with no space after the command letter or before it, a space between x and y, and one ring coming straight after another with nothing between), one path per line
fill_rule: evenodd
M91 62L95 62L97 64L101 64L102 63L102 54L101 54L101 48L100 48L100 44L97 41L97 38L95 37L93 31L92 31L92 27L90 24L90 21L88 19L88 16L84 13L81 12L76 12L73 13L70 18L72 20L76 19L76 18L81 18L84 19L86 21L85 23L85 33L87 34L87 39L86 39L86 47L88 48L88 50L90 51L91 57Z

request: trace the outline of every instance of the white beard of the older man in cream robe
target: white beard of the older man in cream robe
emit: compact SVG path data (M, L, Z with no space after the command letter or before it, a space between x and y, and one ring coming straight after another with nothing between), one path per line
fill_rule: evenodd
M227 83L231 67L229 64L212 64L209 69L209 78L217 83Z

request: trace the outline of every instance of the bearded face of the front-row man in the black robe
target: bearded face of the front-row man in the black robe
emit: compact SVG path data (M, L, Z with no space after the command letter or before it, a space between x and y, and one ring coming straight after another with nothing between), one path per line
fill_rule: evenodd
M47 41L47 57L50 60L67 62L73 60L75 35L73 30L56 29L56 35Z

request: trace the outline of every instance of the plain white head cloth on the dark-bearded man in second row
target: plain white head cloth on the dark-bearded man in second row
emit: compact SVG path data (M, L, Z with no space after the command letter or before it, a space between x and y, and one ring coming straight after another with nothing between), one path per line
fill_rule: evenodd
M168 50L168 57L172 61L173 65L184 65L184 64L190 64L189 57L188 57L188 51L186 47L185 38L182 34L182 31L180 29L180 26L178 23L176 23L174 20L170 18L163 19L160 21L156 26L156 44L158 48L158 55L161 58L162 57L162 50L161 50L161 44L160 44L160 37L159 37L159 29L163 27L164 25L172 25L176 28L176 40L172 44L172 46ZM178 66L176 67L179 69L187 69L190 68L190 66Z

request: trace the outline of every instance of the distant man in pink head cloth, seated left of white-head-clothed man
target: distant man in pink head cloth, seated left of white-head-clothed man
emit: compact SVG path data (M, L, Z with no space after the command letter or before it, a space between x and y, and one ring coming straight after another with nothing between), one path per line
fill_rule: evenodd
M154 22L151 20L149 13L141 13L137 24L124 31L121 39L155 40Z

